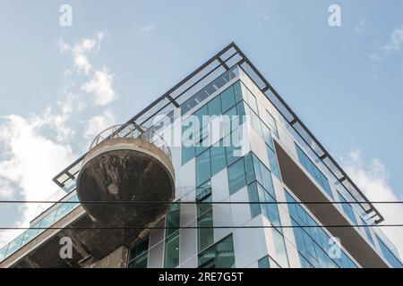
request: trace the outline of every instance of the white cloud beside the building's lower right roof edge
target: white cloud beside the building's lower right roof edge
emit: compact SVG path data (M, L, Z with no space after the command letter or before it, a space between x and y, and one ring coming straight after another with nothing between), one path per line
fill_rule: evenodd
M364 165L361 152L350 152L343 160L345 170L356 185L364 192L370 201L398 201L400 200L393 189L390 188L386 167L378 159ZM403 206L400 204L374 205L384 216L384 223L402 223ZM382 231L396 245L399 253L403 253L403 231L398 227L385 227Z

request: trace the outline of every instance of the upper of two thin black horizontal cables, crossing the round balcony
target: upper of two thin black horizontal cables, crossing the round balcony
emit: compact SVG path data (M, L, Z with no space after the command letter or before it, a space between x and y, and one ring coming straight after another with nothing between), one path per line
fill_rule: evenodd
M303 201L303 202L247 202L247 201L237 201L237 202L197 202L197 201L133 201L133 200L118 200L118 201L105 201L105 200L86 200L86 201L59 201L59 200L0 200L0 204L106 204L106 205L242 205L242 204L268 204L268 205L344 205L344 204L403 204L403 201L373 201L373 202L321 202L321 201Z

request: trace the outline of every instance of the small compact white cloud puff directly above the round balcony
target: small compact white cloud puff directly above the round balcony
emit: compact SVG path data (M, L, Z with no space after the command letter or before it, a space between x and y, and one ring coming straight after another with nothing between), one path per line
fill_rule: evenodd
M104 66L102 70L95 71L92 79L85 83L81 90L92 95L96 105L108 105L116 99L115 90L112 88L114 76Z

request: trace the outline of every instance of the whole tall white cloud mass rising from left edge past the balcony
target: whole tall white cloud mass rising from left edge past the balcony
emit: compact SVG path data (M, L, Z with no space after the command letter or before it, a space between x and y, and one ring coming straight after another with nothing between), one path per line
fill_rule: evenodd
M99 32L92 38L81 38L75 45L60 38L59 50L73 56L73 65L64 71L62 100L47 106L39 115L0 117L0 198L46 200L59 194L61 189L52 178L77 158L73 146L81 147L90 136L90 130L95 132L114 122L110 111L95 110L102 115L90 120L85 113L93 112L96 105L105 106L116 99L112 88L114 76L106 67L98 71L90 63L90 53L99 52L104 37L105 32ZM76 81L88 82L82 87ZM87 100L88 96L82 91L93 95L95 100ZM10 223L27 227L38 207L21 205L16 209L20 217L10 217ZM0 231L0 247L18 232L21 231Z

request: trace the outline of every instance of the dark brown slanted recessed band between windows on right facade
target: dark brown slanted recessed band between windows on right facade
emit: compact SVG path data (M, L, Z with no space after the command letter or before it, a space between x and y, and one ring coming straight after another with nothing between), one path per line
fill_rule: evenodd
M287 155L287 152L275 142L277 155L279 157L279 169L284 183L304 202L329 202L322 191L309 179L309 177L299 168L294 160ZM331 204L306 205L313 215L323 225L348 225L347 219L339 210ZM363 267L388 267L381 257L364 240L364 237L351 227L330 228L330 233L340 239L344 248Z

